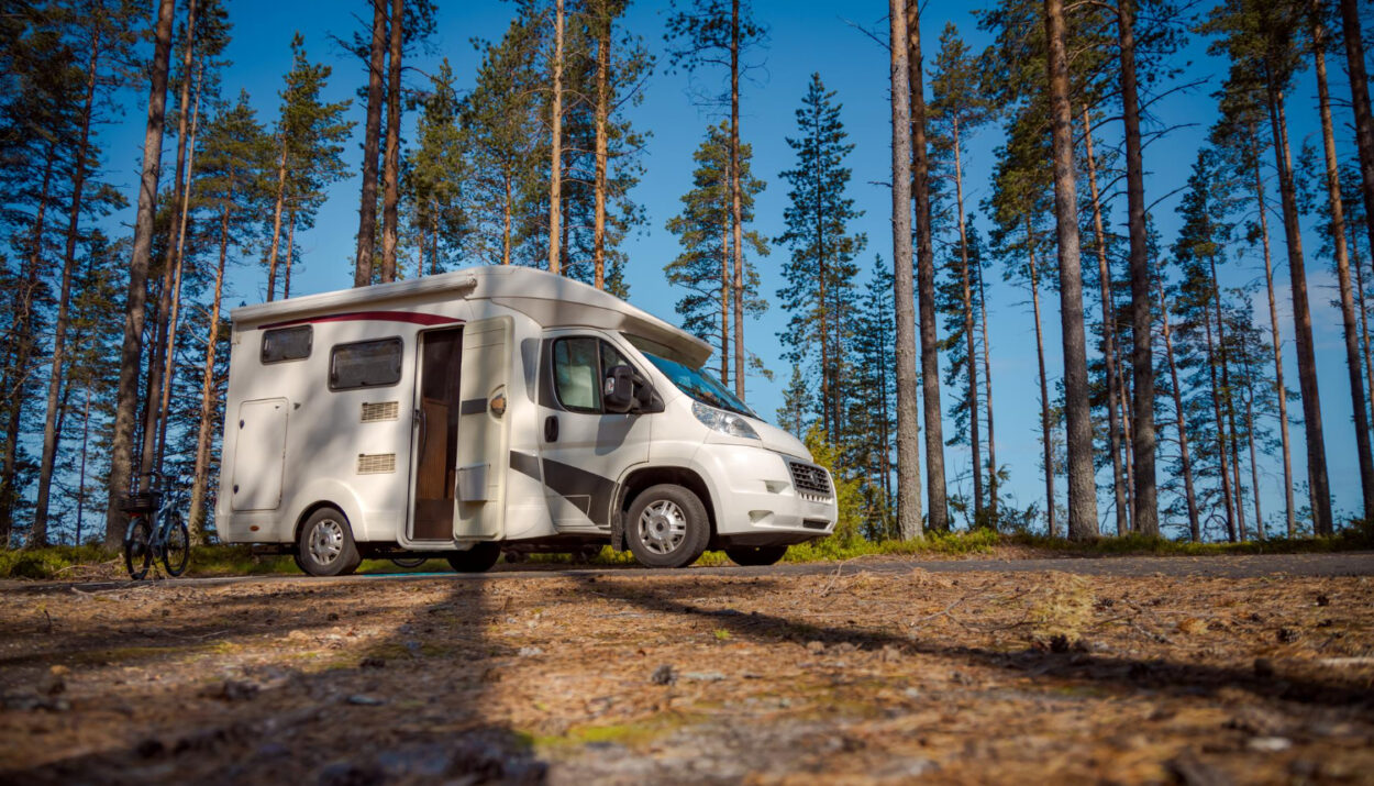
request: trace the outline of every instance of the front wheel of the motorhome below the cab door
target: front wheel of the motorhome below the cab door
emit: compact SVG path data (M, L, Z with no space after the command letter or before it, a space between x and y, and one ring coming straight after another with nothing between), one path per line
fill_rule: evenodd
M710 540L706 506L683 486L650 486L629 506L625 540L646 568L686 568L697 562Z

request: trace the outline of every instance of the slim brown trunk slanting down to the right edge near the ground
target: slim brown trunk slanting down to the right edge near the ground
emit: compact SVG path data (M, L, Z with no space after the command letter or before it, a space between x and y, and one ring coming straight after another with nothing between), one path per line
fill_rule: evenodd
M1370 455L1370 422L1364 414L1364 382L1360 379L1360 338L1355 326L1355 295L1351 293L1351 260L1345 247L1345 206L1341 203L1341 176L1336 161L1336 131L1331 124L1331 96L1326 87L1326 25L1320 0L1312 3L1312 55L1316 59L1316 96L1322 115L1322 150L1326 154L1326 192L1331 205L1331 243L1336 247L1336 278L1341 290L1341 327L1345 333L1345 367L1351 379L1351 408L1355 411L1355 451L1360 462L1363 518L1374 515L1374 458Z

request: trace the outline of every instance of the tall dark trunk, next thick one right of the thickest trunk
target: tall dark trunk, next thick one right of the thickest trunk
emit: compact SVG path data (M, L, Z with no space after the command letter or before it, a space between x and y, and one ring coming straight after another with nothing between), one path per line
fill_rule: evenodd
M1160 535L1160 507L1154 485L1154 348L1150 328L1150 257L1145 228L1145 169L1140 162L1140 103L1135 81L1134 0L1117 3L1117 43L1121 51L1121 107L1125 121L1127 214L1131 228L1131 367L1135 377L1135 423L1131 456L1135 499L1131 521L1136 532Z

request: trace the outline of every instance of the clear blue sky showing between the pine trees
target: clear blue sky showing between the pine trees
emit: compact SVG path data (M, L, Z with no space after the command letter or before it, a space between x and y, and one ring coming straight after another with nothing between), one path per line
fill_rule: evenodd
M429 52L414 58L407 65L414 67L408 76L409 84L423 84L425 73L433 73L442 58L448 58L459 78L460 88L471 85L477 66L477 54L470 38L499 38L504 32L514 4L500 1L440 3L438 30ZM926 7L921 27L927 65L937 48L940 30L947 21L958 25L965 40L980 49L988 43L987 34L976 29L971 11L978 3L930 3ZM315 1L315 3L269 3L265 0L234 0L229 3L229 18L234 23L234 40L227 56L234 65L224 74L225 95L236 95L243 88L251 96L253 106L264 122L271 122L278 111L278 89L282 76L290 67L290 40L300 30L306 40L312 59L324 60L335 71L328 88L334 100L352 98L364 81L360 65L344 55L331 41L330 33L346 36L361 25L360 16L367 14L363 1ZM662 32L666 15L664 3L636 3L625 23L640 36L651 51L662 55ZM888 109L888 51L874 41L860 27L886 37L885 3L820 3L820 1L760 1L756 4L756 18L769 27L767 49L758 59L764 67L756 71L753 81L742 88L742 136L753 144L753 172L768 183L756 203L756 228L768 238L782 232L782 214L786 206L786 187L778 173L791 166L791 151L785 143L794 133L794 110L800 104L807 81L813 71L822 76L826 87L838 93L844 104L842 120L849 131L855 151L849 159L853 169L851 196L866 214L855 221L853 231L868 235L868 250L861 262L864 271L871 267L872 254L881 254L890 264L890 198L885 183L890 180L890 126ZM1172 242L1178 229L1173 207L1179 196L1173 194L1187 180L1195 151L1206 135L1206 126L1216 115L1209 93L1224 78L1223 62L1209 58L1206 41L1191 40L1180 52L1179 63L1187 63L1180 81L1195 78L1209 80L1204 87L1173 93L1154 107L1154 114L1164 125L1176 128L1167 137L1146 148L1145 165L1149 170L1146 198L1149 202L1162 201L1154 207L1158 229L1164 243ZM691 154L699 143L706 126L719 117L712 117L692 104L686 77L668 74L660 58L658 69L651 76L644 102L633 109L629 117L642 131L651 132L644 151L644 177L633 191L633 198L642 203L649 223L636 236L627 242L629 265L627 276L631 284L631 301L653 313L677 322L672 311L679 294L662 276L664 264L677 253L676 239L665 228L665 221L677 213L680 195L690 188L692 161ZM1338 100L1348 100L1349 88L1344 71L1331 63L1331 92ZM929 82L927 82L929 84ZM122 122L107 129L106 150L113 161L111 181L120 184L131 199L140 161L143 139L142 100L146 92L131 91L125 96L126 113ZM363 107L354 102L353 117L359 121L357 137L348 147L348 161L353 172L359 170L361 158ZM1304 140L1319 142L1316 118L1315 82L1311 71L1298 77L1297 89L1289 104L1290 135L1294 150ZM407 115L407 128L414 117ZM1338 111L1341 125L1340 140L1342 153L1352 148L1348 118ZM1107 139L1120 133L1117 124L1106 122L1099 136ZM989 175L992 151L1000 142L995 126L985 128L969 146L965 161L967 176L967 203L977 205L991 190ZM170 157L170 151L169 151ZM1048 165L1048 162L1047 162ZM170 168L166 168L170 177ZM1085 188L1087 184L1080 184ZM316 228L300 236L304 268L293 273L293 293L309 294L350 286L352 254L357 229L357 202L360 180L350 177L334 187L330 201L319 216ZM1173 194L1172 196L1167 196ZM1124 198L1116 206L1109 221L1124 221ZM1276 205L1276 194L1274 203ZM132 207L117 216L125 225L132 224ZM987 227L987 221L982 221ZM1281 324L1285 333L1285 370L1289 386L1296 389L1297 359L1292 345L1292 313L1289 305L1287 269L1283 264L1285 246L1282 228L1276 217L1271 220L1271 234L1275 242L1276 280L1279 289ZM1314 221L1305 223L1304 247L1308 254L1308 276L1312 286L1312 320L1316 330L1316 350L1322 392L1322 412L1326 423L1327 456L1331 473L1331 488L1336 506L1341 511L1355 513L1359 508L1359 482L1355 462L1355 444L1351 426L1351 403L1344 350L1340 333L1340 313L1331 306L1336 297L1334 275L1329 272L1327 260L1315 258L1320 247ZM775 247L769 258L758 261L763 278L763 291L772 300L782 284L779 265L786 249ZM1260 276L1260 260L1250 254L1227 265L1226 276L1231 286L1254 280ZM227 306L239 302L258 302L262 298L264 276L253 260L242 264L231 273ZM998 459L1010 470L1010 493L1021 507L1043 497L1043 481L1039 470L1040 447L1039 403L1036 394L1036 360L1033 323L1028 294L1006 284L1000 276L988 276L989 316L992 330L993 397L996 407ZM1095 301L1094 301L1095 302ZM1092 305L1092 304L1090 304ZM1263 295L1256 304L1257 317L1265 320ZM1047 331L1047 363L1051 377L1062 374L1058 346L1057 297L1044 302ZM1092 306L1094 309L1096 306ZM776 306L758 322L746 326L746 344L764 363L776 372L776 381L761 378L749 381L749 401L765 418L772 418L782 400L782 388L789 370L780 360L780 344L776 333L786 324L787 315ZM1290 404L1294 416L1301 414L1297 401ZM1301 427L1293 429L1294 474L1305 475ZM947 462L952 482L969 491L967 477L970 459L966 447L947 448ZM1261 486L1264 510L1270 525L1282 518L1282 474L1276 460L1261 459ZM1161 464L1161 471L1167 471ZM1099 484L1109 481L1109 473L1099 475ZM1248 481L1246 481L1248 482ZM1063 499L1063 485L1059 486L1059 502ZM1101 496L1099 518L1109 522L1109 493ZM1246 500L1249 506L1249 500ZM1253 514L1252 514L1253 515Z

